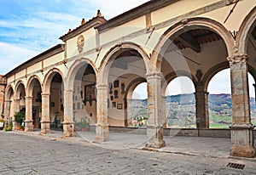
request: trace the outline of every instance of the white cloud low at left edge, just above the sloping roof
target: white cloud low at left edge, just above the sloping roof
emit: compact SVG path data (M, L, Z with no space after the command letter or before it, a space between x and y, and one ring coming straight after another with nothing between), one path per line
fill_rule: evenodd
M13 44L0 42L0 75L6 74L36 54L38 53L28 48L20 48Z

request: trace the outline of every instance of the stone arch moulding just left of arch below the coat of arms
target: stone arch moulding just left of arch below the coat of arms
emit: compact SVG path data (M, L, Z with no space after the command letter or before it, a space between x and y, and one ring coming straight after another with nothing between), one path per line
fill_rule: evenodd
M54 78L56 73L59 73L61 75L62 80L63 80L63 77L64 77L63 73L59 69L53 68L53 69L49 70L47 72L47 74L44 76L44 82L43 82L43 88L42 88L43 93L49 93L50 82L52 81L52 79Z

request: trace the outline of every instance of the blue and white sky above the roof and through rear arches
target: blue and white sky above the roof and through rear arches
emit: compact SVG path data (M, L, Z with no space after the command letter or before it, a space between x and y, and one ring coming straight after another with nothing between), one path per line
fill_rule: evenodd
M111 19L148 0L1 0L0 1L0 75L4 75L28 59L62 43L59 37L90 20L97 9ZM114 5L118 4L118 5ZM230 93L229 71L221 71L209 84L210 93ZM253 78L249 77L250 96L255 97ZM183 86L185 84L186 86ZM182 85L182 86L181 86ZM180 88L185 87L185 88ZM146 99L146 85L136 88L140 99ZM193 93L191 81L174 79L166 95Z

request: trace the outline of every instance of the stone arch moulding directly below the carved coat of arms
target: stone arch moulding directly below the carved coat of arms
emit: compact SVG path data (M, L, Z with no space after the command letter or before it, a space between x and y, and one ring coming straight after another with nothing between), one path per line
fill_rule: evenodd
M65 82L64 83L64 87L65 89L73 89L73 82L75 79L75 76L77 74L77 72L79 71L79 69L83 66L83 65L90 65L93 69L93 71L96 74L96 80L97 80L97 76L98 76L98 70L96 69L96 65L94 62L92 62L90 59L77 59L74 61L73 65L71 65L69 71L67 72L67 77L65 78Z

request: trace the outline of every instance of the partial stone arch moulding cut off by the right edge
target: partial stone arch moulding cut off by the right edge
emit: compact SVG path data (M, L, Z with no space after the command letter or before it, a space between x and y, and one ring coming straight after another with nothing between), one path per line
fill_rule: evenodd
M238 48L239 54L247 53L247 36L251 30L256 26L256 7L254 7L243 23L241 24L236 37L236 47Z

